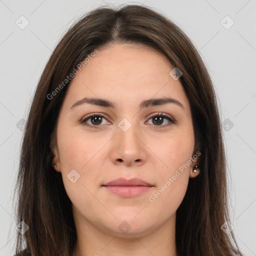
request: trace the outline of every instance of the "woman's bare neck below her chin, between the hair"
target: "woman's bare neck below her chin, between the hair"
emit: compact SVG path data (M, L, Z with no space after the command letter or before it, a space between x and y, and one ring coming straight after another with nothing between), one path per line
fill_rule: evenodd
M76 222L77 243L72 256L178 256L175 246L175 214L159 227L125 235L103 232L84 218Z

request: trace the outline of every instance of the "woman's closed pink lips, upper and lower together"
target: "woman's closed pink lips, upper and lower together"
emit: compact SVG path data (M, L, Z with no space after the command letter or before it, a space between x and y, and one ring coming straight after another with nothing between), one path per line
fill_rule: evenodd
M108 191L122 197L133 197L146 192L153 187L153 185L140 178L117 178L102 186Z

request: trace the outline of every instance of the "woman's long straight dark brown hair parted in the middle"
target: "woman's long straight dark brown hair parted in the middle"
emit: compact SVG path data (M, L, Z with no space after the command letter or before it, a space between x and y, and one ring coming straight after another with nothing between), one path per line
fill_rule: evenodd
M195 151L201 155L200 174L189 179L176 211L177 252L182 256L242 255L233 232L226 234L221 229L229 220L228 190L211 79L184 32L159 12L142 5L101 6L90 11L69 28L52 52L37 84L22 140L15 187L16 221L24 221L29 229L23 235L17 232L16 255L70 256L75 248L71 201L61 173L52 168L52 141L68 87L66 77L95 49L113 43L151 46L182 72L179 81L190 103ZM56 92L54 96L52 91Z

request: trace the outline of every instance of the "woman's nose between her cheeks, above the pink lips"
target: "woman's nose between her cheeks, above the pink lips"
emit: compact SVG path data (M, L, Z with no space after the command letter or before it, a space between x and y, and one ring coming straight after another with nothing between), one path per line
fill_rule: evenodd
M120 126L121 127L121 126ZM146 161L146 145L139 127L132 124L127 130L116 126L116 135L111 140L109 157L114 164L139 166Z

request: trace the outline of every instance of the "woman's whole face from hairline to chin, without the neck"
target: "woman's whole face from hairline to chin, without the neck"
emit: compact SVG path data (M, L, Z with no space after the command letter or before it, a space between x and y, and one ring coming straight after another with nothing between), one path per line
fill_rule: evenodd
M124 44L98 50L68 85L53 162L76 221L144 235L173 221L198 173L190 106L162 53ZM147 101L160 98L172 99ZM117 178L131 183L107 185Z

